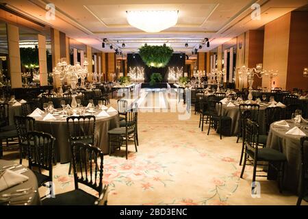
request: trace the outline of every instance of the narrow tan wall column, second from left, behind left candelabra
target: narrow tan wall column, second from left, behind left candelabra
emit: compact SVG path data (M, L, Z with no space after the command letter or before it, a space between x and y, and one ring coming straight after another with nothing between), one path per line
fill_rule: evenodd
M38 64L40 66L40 86L48 85L46 37L38 34Z

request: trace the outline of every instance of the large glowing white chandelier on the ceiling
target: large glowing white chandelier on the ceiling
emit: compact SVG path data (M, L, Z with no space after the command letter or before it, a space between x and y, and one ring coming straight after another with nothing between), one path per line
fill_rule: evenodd
M127 11L129 25L157 33L177 24L178 11Z

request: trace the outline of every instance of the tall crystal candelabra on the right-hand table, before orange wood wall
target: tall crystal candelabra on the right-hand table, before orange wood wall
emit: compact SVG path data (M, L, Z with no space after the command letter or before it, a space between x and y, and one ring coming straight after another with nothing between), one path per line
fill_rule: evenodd
M270 77L270 86L272 86L272 79L278 76L278 70L274 72L274 70L264 70L262 68L262 64L257 64L255 68L247 68L246 66L242 66L239 71L240 78L248 79L249 83L249 94L248 100L253 99L253 79L255 75L258 78Z

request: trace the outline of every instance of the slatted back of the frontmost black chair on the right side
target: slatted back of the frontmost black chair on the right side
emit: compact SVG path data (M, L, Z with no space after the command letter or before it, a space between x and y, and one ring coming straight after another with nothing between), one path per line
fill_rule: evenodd
M257 158L258 145L259 145L259 125L253 120L247 118L245 120L245 138L244 144L246 151L253 151L255 158Z

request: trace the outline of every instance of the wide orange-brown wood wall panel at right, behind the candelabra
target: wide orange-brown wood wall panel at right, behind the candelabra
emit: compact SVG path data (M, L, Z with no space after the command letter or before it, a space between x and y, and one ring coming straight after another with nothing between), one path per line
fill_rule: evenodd
M290 21L291 13L288 13L264 28L263 67L265 70L279 70L279 77L273 79L272 87L276 88L286 88ZM270 88L270 79L264 78L262 86Z

